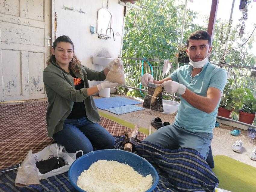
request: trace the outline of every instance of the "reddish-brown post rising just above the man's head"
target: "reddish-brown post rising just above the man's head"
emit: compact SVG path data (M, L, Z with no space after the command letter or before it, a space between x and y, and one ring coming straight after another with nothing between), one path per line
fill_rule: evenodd
M219 0L212 0L211 12L210 12L208 29L207 29L207 32L211 36L211 41L213 41L213 36L214 36L214 28L215 28L215 21L216 21L216 16L218 11L218 5L219 5Z

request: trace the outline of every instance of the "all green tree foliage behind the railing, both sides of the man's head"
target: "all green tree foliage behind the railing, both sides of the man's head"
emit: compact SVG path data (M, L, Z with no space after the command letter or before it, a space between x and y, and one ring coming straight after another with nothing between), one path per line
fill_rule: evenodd
M146 57L148 59L170 59L175 68L177 61L175 55L178 52L180 44L185 6L176 4L176 1L174 0L140 0L137 5L142 7L143 10L129 9L129 13L126 16L122 56L137 58ZM200 26L193 23L197 14L197 12L189 9L186 11L186 23L183 33L184 44L186 44L187 38L192 32L207 29L207 25ZM205 17L205 23L208 23L208 16ZM229 22L226 20L216 21L211 62L217 63L221 61L223 58L225 41L227 40L228 51L224 60L226 63L249 66L255 65L256 57L253 54L248 53L249 49L252 48L254 36L249 39L245 46L242 46L239 49L234 49L240 45L239 26L228 27L228 24ZM243 39L241 39L242 42L245 42L248 36L249 34L244 34ZM223 41L223 39L225 41ZM153 66L158 66L163 63L152 62L151 64ZM130 67L134 68L131 70L133 74L132 78L130 78L132 86L139 87L139 82L134 81L134 79L135 77L140 76L141 72L135 66ZM239 78L237 83L244 83L242 77ZM255 81L255 79L253 81ZM246 85L247 84L248 82L246 82Z

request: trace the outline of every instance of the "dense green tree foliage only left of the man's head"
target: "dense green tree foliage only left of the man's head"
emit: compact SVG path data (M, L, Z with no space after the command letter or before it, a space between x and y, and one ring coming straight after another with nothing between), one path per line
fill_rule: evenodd
M131 9L126 16L123 57L176 60L184 5L170 0L141 0L139 6L142 11ZM184 42L192 31L201 29L192 24L195 16L196 13L187 11Z

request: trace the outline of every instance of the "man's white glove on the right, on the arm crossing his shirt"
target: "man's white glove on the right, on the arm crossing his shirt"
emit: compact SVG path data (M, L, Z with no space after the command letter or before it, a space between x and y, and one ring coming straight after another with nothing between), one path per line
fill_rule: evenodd
M163 82L162 87L164 87L164 91L167 93L178 93L183 95L186 91L185 85L171 80Z

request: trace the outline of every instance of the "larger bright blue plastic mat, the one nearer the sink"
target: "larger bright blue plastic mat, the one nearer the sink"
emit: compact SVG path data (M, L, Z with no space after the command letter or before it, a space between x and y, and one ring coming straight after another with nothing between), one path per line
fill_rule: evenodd
M141 103L139 101L126 99L124 97L100 98L100 99L94 99L94 102L96 104L96 107L98 107L99 109L109 109L113 107L121 107L124 105L134 105L134 104Z

